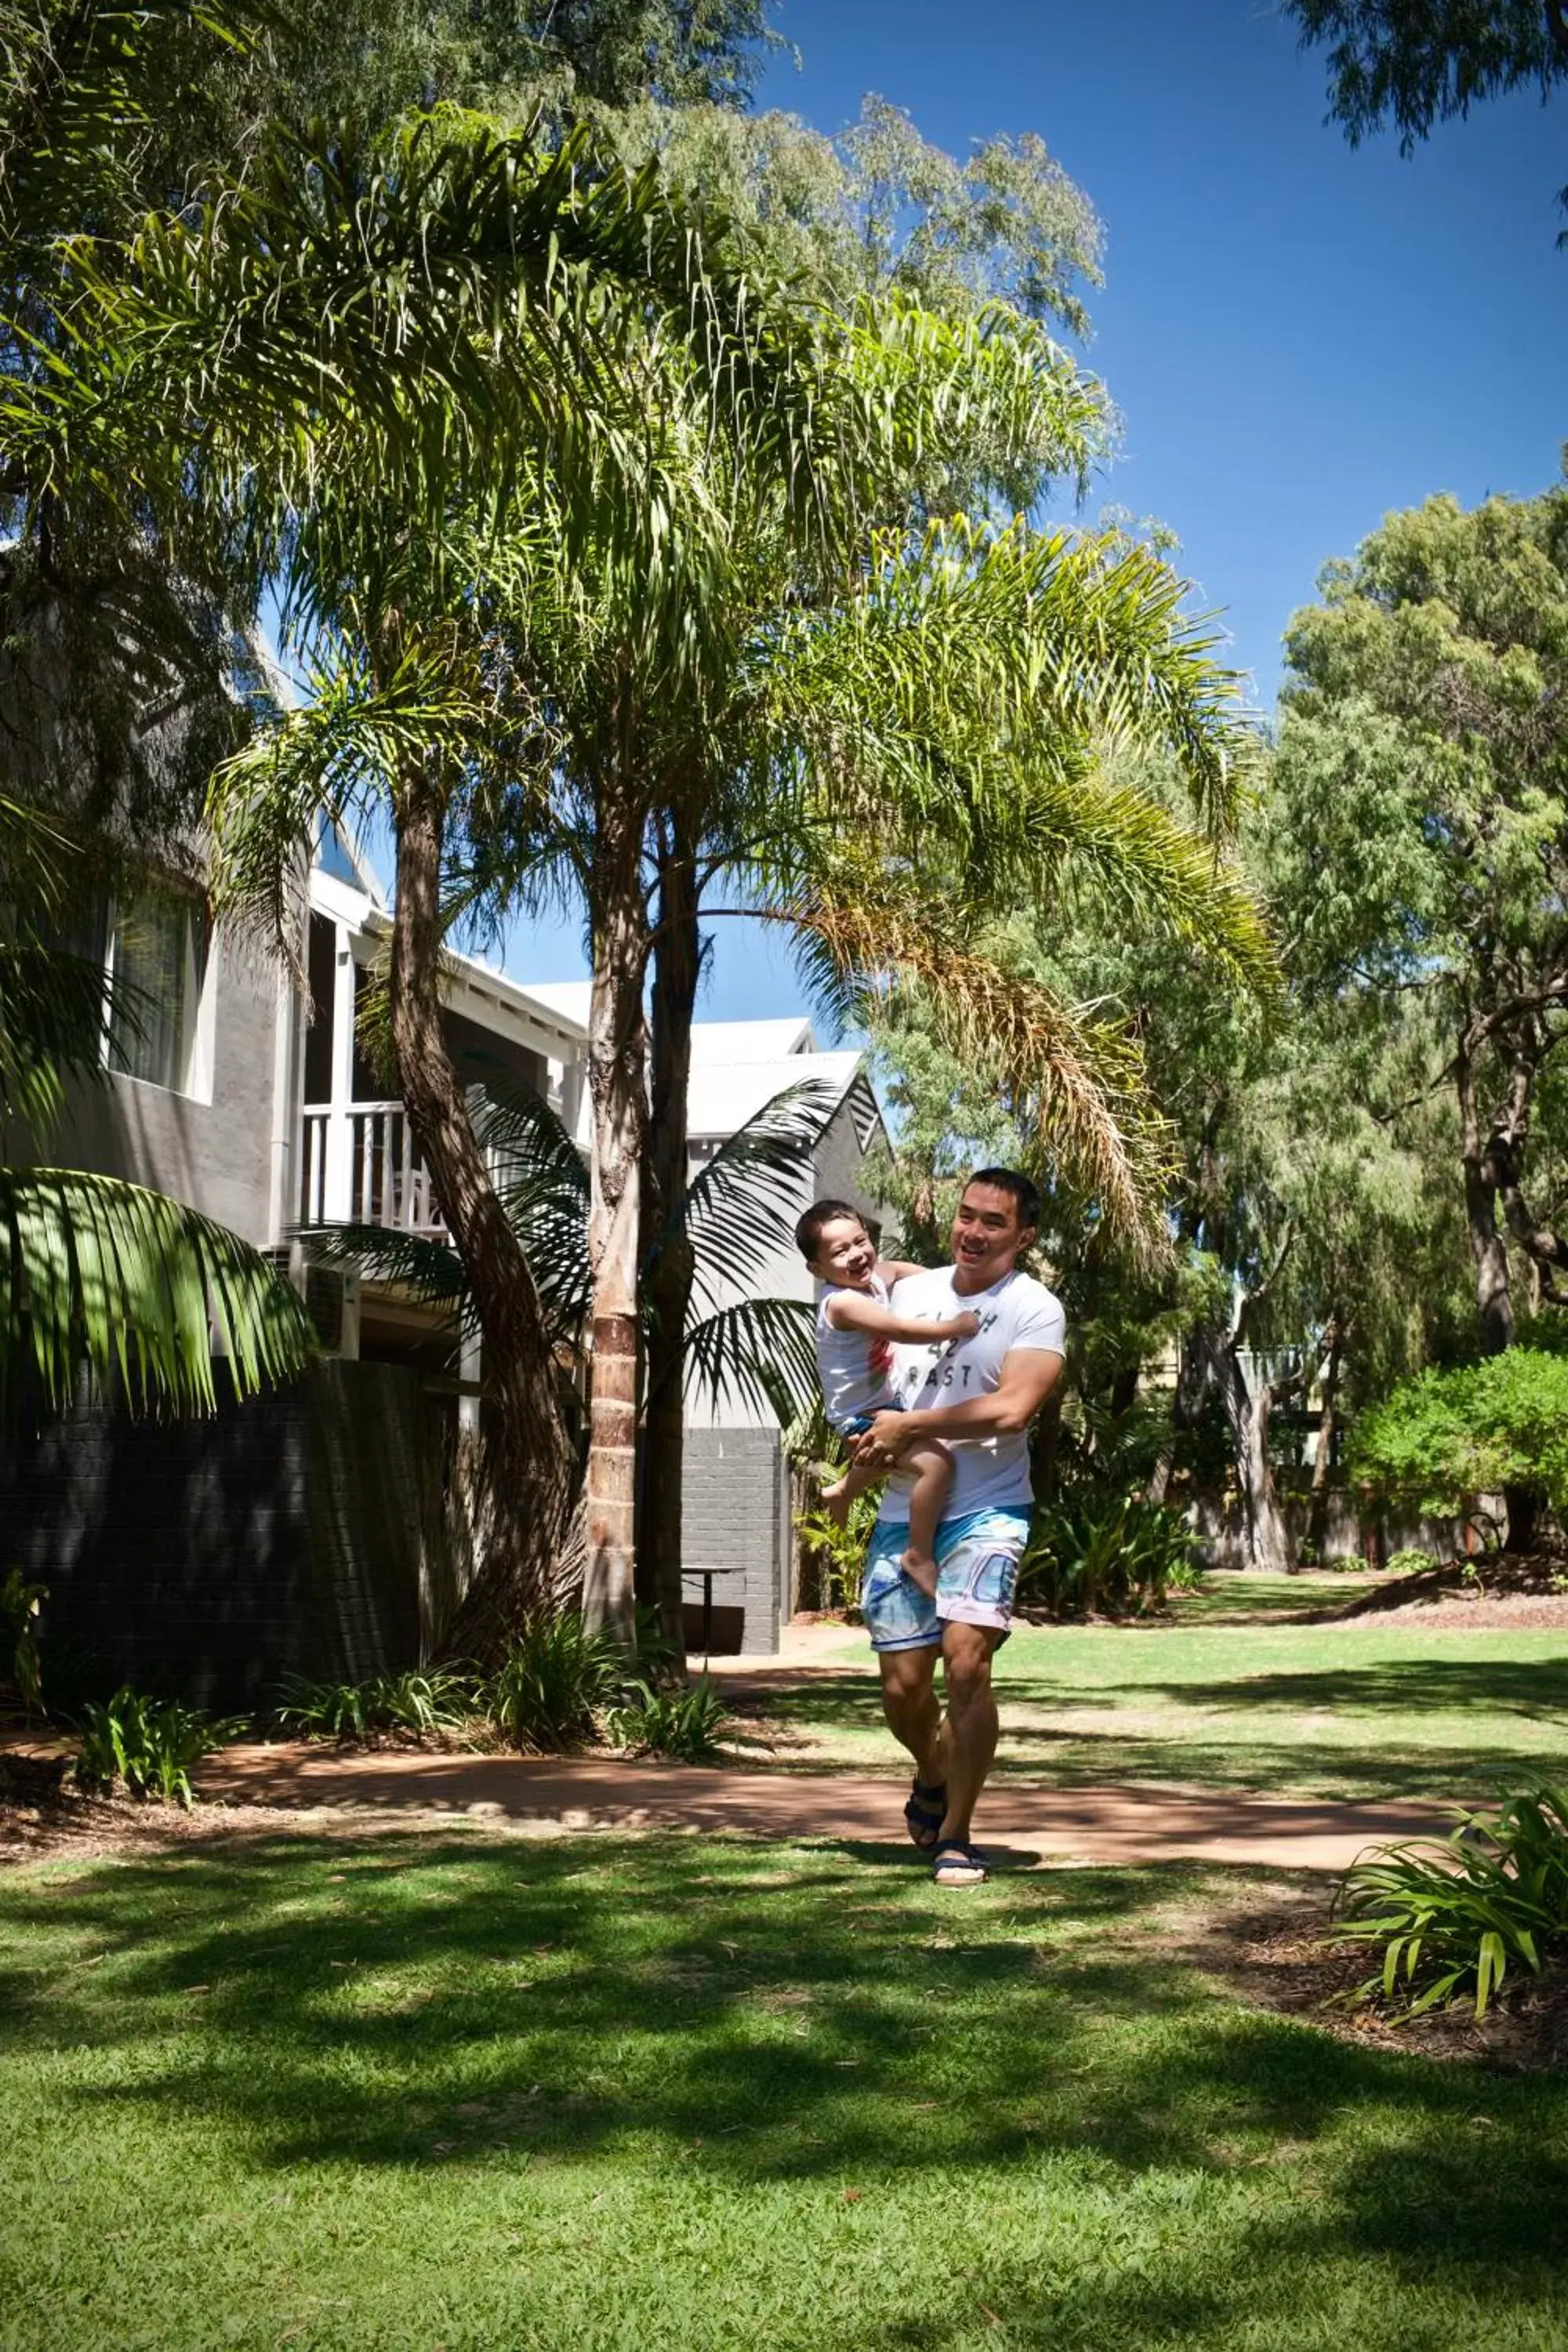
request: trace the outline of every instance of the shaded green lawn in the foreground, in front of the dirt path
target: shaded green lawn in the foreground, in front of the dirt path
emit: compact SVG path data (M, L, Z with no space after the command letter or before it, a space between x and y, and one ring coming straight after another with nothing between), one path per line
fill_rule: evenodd
M1215 1886L668 1837L12 1870L0 2345L1561 2352L1568 2079L1248 2013L1173 1933Z

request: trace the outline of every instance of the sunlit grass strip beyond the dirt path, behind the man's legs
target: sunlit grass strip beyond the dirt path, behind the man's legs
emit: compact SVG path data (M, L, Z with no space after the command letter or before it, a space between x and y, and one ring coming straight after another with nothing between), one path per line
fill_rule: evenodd
M1215 1578L1218 1583L1218 1578ZM1500 1780L1568 1783L1568 1630L1302 1625L1324 1578L1251 1585L1262 1623L1020 1628L997 1661L997 1771L1056 1785L1171 1780L1312 1797L1490 1797ZM1204 1604L1234 1611L1234 1595ZM792 1769L903 1769L882 1729L870 1651L748 1698ZM748 1750L752 1757L766 1750Z

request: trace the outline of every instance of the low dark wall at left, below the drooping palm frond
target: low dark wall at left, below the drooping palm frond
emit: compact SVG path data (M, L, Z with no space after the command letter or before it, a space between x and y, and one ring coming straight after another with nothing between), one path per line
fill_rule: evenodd
M212 1421L85 1406L0 1449L0 1559L49 1588L45 1675L240 1710L289 1672L414 1665L433 1454L418 1374L343 1362Z

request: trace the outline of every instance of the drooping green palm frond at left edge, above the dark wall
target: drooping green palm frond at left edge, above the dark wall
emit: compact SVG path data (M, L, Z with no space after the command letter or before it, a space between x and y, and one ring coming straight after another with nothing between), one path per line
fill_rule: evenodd
M214 1409L214 1343L240 1395L320 1352L303 1301L261 1251L115 1176L0 1169L0 1251L7 1397L31 1371L59 1411L85 1359L139 1411L202 1414Z

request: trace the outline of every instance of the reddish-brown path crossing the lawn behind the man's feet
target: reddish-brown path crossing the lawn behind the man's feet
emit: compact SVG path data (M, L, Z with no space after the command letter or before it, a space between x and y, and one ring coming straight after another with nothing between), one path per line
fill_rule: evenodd
M743 1830L903 1844L903 1788L870 1773L748 1773L616 1757L357 1755L310 1745L228 1748L205 1797L244 1806L447 1813L557 1830ZM1366 1844L1446 1828L1432 1804L1333 1804L1190 1788L997 1785L976 1835L1016 1867L1208 1860L1342 1870Z

